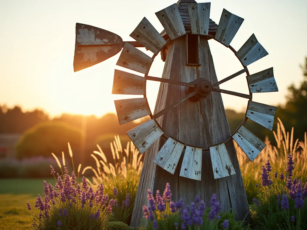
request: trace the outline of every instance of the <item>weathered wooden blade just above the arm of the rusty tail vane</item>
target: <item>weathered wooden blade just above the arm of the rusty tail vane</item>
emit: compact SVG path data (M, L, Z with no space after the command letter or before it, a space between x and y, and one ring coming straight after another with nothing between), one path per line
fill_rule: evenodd
M155 55L157 55L166 44L165 39L153 27L153 25L150 24L146 17L142 19L130 36Z

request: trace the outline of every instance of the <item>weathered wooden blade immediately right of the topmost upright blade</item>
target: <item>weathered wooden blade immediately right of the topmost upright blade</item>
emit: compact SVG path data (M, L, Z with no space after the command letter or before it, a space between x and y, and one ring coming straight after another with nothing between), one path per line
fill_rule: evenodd
M215 39L228 47L243 21L244 19L242 17L234 15L223 9L220 22L216 30Z

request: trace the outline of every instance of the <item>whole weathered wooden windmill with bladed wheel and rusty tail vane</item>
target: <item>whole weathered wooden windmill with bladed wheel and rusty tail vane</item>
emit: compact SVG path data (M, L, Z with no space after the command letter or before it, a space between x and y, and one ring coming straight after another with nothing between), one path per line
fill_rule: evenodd
M252 94L274 92L278 88L273 67L249 74L247 66L268 54L254 34L238 51L230 46L243 18L224 9L216 25L209 14L210 3L180 0L156 13L164 31L159 33L144 17L130 34L134 42L123 42L109 31L76 24L75 71L102 62L122 50L116 64L140 73L115 70L112 90L113 94L144 95L115 101L120 124L147 115L151 117L127 132L138 150L146 151L131 225L140 225L147 189L162 190L166 182L171 185L174 201L182 198L189 203L200 195L208 204L216 193L222 210L232 208L241 220L249 213L232 140L251 161L257 157L265 144L244 125L251 119L272 130L276 107L252 101ZM218 81L209 39L230 48L243 69ZM146 47L153 56L147 56L136 47ZM162 78L148 76L159 52L165 61ZM250 94L220 89L220 84L242 73L247 75ZM146 99L149 81L161 82L154 113ZM245 119L232 135L221 93L249 99Z

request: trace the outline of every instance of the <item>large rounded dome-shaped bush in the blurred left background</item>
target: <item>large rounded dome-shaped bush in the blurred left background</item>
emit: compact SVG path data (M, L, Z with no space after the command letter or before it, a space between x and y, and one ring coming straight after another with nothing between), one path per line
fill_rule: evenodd
M50 157L53 152L61 156L62 151L68 152L67 142L74 150L80 149L81 131L63 122L49 121L28 129L16 145L17 158L36 156ZM68 160L66 154L66 159Z

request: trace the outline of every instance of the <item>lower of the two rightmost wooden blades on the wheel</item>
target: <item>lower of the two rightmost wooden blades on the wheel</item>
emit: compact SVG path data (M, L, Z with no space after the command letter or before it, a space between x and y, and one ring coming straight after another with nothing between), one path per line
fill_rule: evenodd
M248 102L246 117L272 130L277 107L258 102Z

